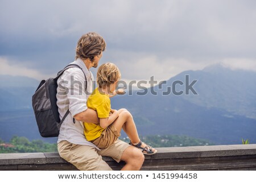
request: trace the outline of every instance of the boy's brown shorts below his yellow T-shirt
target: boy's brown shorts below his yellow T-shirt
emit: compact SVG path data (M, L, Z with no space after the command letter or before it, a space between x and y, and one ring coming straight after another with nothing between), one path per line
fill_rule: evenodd
M101 136L90 141L95 144L98 148L108 148L115 140L120 137L117 129L113 124L109 125L105 130L102 131Z

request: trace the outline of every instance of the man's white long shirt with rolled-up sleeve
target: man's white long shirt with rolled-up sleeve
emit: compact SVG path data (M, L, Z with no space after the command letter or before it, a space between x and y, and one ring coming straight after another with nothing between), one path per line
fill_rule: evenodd
M61 140L67 140L74 144L85 144L94 146L86 141L84 136L84 127L80 121L73 122L73 117L77 113L87 109L86 101L89 97L86 93L92 93L92 73L88 71L82 60L77 59L72 64L78 64L84 71L87 78L87 92L85 92L84 73L79 68L69 68L57 80L57 106L59 107L60 118L63 118L65 112L69 109L70 113L60 127L58 143Z

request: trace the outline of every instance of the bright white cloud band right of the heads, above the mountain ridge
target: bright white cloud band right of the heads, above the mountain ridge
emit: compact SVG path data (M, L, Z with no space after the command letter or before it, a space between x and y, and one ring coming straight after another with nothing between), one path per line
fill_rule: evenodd
M256 60L253 59L228 57L212 60L189 60L180 57L161 58L158 55L149 55L147 53L108 51L108 54L112 55L112 58L108 61L118 66L122 74L122 79L126 81L149 81L150 77L154 76L154 80L159 82L168 80L183 71L201 70L214 64L221 64L231 69L256 71Z

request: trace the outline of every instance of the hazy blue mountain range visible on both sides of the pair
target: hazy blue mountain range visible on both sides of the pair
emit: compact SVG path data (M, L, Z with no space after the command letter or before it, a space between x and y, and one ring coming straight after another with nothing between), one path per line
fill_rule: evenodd
M174 91L185 91L185 78L197 95L185 92L180 96L163 96L175 81ZM2 77L1 81L2 81ZM15 82L16 81L16 82ZM202 71L185 71L147 89L147 94L112 98L112 108L128 109L134 116L140 135L179 134L209 139L216 144L240 144L241 138L256 142L256 73L231 70L214 65ZM6 76L0 85L0 138L13 135L42 139L32 112L31 97L39 81ZM157 95L150 94L154 89ZM125 136L124 134L122 134ZM56 138L45 139L56 141Z

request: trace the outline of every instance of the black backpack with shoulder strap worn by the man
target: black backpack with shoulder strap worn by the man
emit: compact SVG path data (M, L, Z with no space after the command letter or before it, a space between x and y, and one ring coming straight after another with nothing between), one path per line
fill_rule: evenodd
M63 74L63 72L69 68L78 67L77 64L69 64L59 73L55 78L48 78L42 80L36 89L35 94L32 96L32 106L35 113L36 123L42 137L58 137L60 126L64 119L69 114L69 110L65 113L64 117L60 121L58 106L56 104L57 98L57 80ZM82 71L84 73L84 71ZM84 74L85 76L85 74ZM85 90L87 88L87 79L85 76Z

